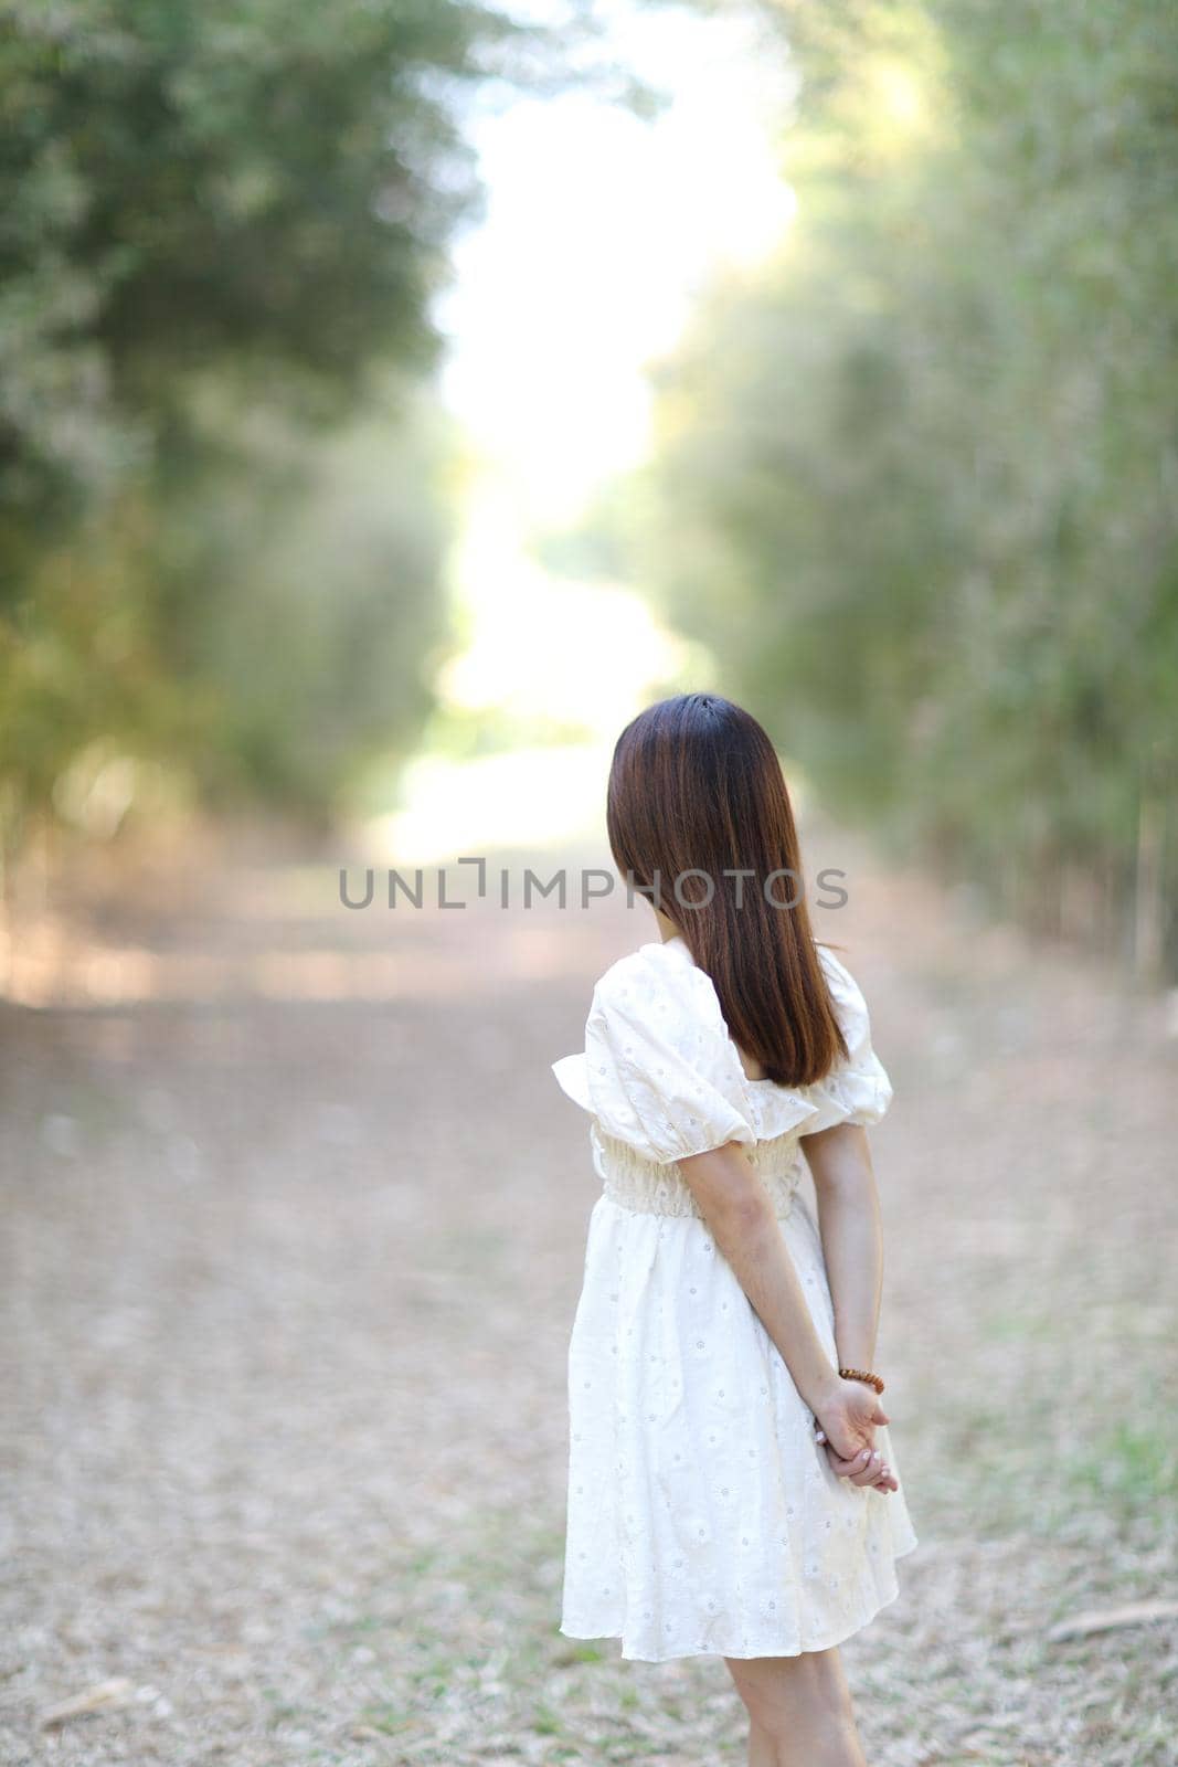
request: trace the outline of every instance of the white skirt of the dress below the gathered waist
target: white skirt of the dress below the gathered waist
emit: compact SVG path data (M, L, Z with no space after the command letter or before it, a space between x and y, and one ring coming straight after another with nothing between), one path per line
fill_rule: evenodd
M779 1226L837 1362L814 1209ZM841 1479L814 1414L698 1214L593 1203L569 1341L569 1504L560 1631L622 1657L825 1650L899 1594L917 1546L899 1481Z

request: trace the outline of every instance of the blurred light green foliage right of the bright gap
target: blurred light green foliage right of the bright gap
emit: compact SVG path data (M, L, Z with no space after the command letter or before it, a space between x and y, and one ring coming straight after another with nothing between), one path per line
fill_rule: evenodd
M797 223L657 380L636 569L848 813L1178 970L1178 11L765 7Z

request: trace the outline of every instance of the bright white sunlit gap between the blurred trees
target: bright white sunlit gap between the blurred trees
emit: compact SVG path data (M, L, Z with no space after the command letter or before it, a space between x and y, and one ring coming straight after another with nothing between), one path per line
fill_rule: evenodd
M622 724L659 687L717 686L714 656L639 583L555 574L535 539L648 456L648 368L708 276L782 242L789 76L758 57L749 14L615 5L608 18L606 48L650 81L653 117L565 94L468 122L487 212L456 246L438 306L442 394L466 454L449 564L464 641L438 673L434 737L477 723L510 746L412 762L403 808L373 829L390 857L593 832Z

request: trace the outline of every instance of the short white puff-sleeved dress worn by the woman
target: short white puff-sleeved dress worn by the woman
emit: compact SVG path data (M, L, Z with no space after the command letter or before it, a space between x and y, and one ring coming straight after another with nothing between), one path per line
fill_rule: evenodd
M834 1309L798 1138L878 1122L892 1085L864 997L818 945L850 1058L811 1087L749 1080L712 977L682 937L618 958L593 988L585 1050L553 1062L592 1113L602 1180L569 1343L569 1502L560 1631L622 1657L825 1650L899 1594L917 1546L899 1483L841 1479L676 1159L751 1149L818 1334ZM885 1401L887 1407L887 1401Z

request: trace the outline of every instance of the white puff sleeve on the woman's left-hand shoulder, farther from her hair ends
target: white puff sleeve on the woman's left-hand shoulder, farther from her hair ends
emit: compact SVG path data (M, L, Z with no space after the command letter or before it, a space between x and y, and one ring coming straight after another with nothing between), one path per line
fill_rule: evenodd
M712 1002L703 972L641 951L593 988L585 1025L590 1108L606 1134L661 1166L756 1141L740 1058L714 1023Z

